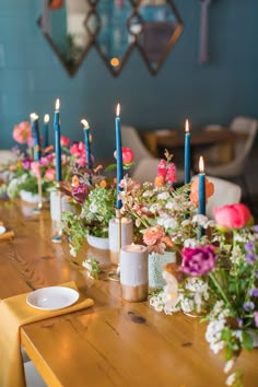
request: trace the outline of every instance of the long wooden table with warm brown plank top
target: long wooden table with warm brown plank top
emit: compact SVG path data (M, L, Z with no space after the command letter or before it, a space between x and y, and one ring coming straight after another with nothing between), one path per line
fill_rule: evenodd
M81 267L95 255L105 272L107 251L85 250L77 258L66 243L54 244L49 213L32 206L0 203L0 220L15 232L0 242L0 297L74 280L95 305L21 329L21 342L50 387L221 387L224 357L204 340L206 325L183 314L166 316L148 302L120 297L118 282L89 279ZM246 387L257 386L258 351L238 361ZM14 386L13 386L14 387Z

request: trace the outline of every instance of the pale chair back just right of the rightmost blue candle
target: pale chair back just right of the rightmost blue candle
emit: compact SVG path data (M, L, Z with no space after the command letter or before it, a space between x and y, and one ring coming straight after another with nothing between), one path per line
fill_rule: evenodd
M235 183L219 177L207 177L214 185L214 194L208 200L206 212L208 218L214 219L213 208L238 203L242 197L242 188Z

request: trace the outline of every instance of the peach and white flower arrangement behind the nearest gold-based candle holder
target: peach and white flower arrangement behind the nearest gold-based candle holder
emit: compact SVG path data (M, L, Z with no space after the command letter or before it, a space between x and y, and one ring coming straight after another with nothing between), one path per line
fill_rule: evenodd
M202 222L202 215L197 214L195 195L189 200L190 185L173 187L176 167L172 159L173 155L165 151L154 183L141 185L128 176L121 181L121 212L132 218L136 237L146 245L149 253L179 250L183 241L197 237L198 224ZM208 199L213 194L213 185L208 178L206 186Z

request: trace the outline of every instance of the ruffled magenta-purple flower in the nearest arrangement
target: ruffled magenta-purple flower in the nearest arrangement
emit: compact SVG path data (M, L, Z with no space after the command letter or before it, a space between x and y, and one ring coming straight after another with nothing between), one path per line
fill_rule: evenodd
M215 266L216 256L212 245L185 247L181 257L180 271L192 277L207 274Z

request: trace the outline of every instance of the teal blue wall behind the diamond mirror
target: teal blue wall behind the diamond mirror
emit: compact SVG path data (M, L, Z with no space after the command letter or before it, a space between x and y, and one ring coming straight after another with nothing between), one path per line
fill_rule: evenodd
M9 148L14 124L30 113L52 115L61 99L62 133L83 139L87 117L96 156L114 150L114 112L138 128L228 124L235 115L258 117L258 1L214 0L210 10L210 62L198 63L199 0L175 0L184 32L156 77L137 49L113 78L96 50L69 78L40 34L39 0L0 0L0 148ZM54 133L51 138L54 139Z

